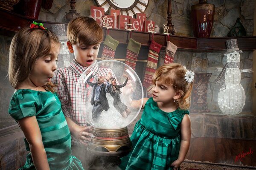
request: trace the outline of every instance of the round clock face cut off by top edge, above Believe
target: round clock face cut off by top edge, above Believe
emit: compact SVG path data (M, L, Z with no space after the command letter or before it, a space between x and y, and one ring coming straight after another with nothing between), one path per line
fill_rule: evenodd
M96 0L97 4L108 13L110 9L121 11L122 15L133 17L136 13L144 13L149 0Z

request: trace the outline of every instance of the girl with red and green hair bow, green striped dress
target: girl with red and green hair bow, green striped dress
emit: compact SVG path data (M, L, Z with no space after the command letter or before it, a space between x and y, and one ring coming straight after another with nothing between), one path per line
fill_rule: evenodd
M58 37L41 23L21 29L12 39L8 75L15 93L9 114L29 151L19 170L84 170L71 155L70 131L50 81L59 50Z

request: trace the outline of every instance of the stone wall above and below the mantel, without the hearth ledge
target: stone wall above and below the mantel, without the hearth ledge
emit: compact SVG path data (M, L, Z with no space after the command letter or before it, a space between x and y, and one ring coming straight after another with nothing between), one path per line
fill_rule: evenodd
M167 23L167 2L167 0L149 0L149 5L145 10L148 20L154 20L160 28L164 23ZM236 17L241 18L247 35L252 35L253 6L255 1L208 0L207 2L215 4L215 23L212 37L224 37L232 28ZM197 3L198 0L172 0L172 22L175 24L177 35L193 37L190 22L190 6ZM89 15L90 6L96 6L94 0L76 0L76 10L81 15ZM64 22L65 12L68 12L69 9L69 0L54 0L50 10L41 8L38 20ZM0 78L3 80L0 82L0 116L2 118L9 118L9 99L14 91L6 78L8 69L7 55L11 39L11 37L0 36ZM163 63L164 53L163 48L160 52L159 65ZM241 69L252 68L252 59L252 51L244 51L241 54ZM215 88L213 81L219 74L216 70L222 68L226 63L226 57L223 55L223 52L193 52L178 49L175 54L175 62L181 63L189 70L198 73L212 73L207 88L207 109L212 112L219 112L217 104L218 89ZM251 112L252 74L242 73L241 84L246 94L246 104L243 112Z

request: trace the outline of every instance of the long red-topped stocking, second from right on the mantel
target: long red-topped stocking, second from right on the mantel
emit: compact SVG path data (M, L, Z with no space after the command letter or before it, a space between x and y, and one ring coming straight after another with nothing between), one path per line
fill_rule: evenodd
M153 88L152 77L157 69L157 62L161 48L162 45L158 44L154 40L151 41L151 44L149 46L148 62L145 71L145 77L143 80L143 86L147 88L148 96L151 96L151 89Z

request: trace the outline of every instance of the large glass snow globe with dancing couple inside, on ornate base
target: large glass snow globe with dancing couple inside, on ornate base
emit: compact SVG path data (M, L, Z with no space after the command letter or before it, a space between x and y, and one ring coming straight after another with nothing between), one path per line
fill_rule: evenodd
M125 63L103 60L88 67L76 86L76 108L94 127L88 150L99 156L127 154L132 149L127 126L139 114L142 99L141 81Z

